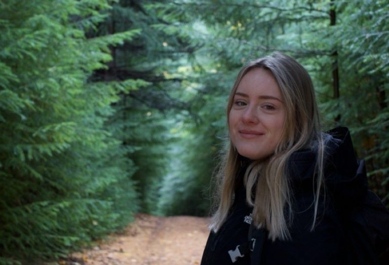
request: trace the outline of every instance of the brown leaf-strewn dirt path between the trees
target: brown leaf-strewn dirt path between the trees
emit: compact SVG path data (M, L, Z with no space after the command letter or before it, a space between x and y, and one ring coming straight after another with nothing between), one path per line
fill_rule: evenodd
M208 218L138 214L122 234L73 253L62 265L200 264L209 234Z

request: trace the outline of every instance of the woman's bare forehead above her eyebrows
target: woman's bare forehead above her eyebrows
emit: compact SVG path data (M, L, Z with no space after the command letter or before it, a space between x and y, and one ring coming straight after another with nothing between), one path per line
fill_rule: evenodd
M274 96L282 98L281 90L278 86L273 73L265 68L253 68L246 72L239 85L236 93L244 93L253 96Z

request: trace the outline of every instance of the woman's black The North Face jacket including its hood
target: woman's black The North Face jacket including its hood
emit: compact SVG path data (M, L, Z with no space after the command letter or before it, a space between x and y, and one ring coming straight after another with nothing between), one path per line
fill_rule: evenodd
M344 230L344 216L358 207L367 192L367 179L363 161L357 161L351 137L346 128L329 132L331 139L326 148L325 196L319 204L317 225L310 227L314 217L313 172L316 154L313 150L300 150L288 162L293 191L293 219L289 220L291 240L266 239L260 258L261 265L337 265L356 264L352 248ZM247 254L232 263L229 250L248 241L250 213L246 203L243 173L239 174L235 201L220 230L210 233L201 265L250 264ZM358 247L357 247L358 251ZM374 261L375 263L375 261Z

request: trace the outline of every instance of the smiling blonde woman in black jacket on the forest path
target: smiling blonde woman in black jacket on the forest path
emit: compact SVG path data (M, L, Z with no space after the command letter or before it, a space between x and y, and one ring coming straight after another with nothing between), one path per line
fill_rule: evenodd
M243 67L227 123L229 146L201 264L359 262L343 223L366 194L364 163L346 128L321 132L306 70L280 53Z

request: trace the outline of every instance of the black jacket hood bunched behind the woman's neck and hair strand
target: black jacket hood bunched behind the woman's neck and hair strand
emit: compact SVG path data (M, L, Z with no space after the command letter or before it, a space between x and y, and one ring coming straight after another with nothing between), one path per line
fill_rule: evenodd
M339 205L355 204L367 191L364 161L356 159L350 133L337 127L327 134L324 158L326 191L336 198ZM314 148L295 152L288 161L289 180L296 192L299 188L313 187L317 152ZM357 200L357 201L356 201Z

